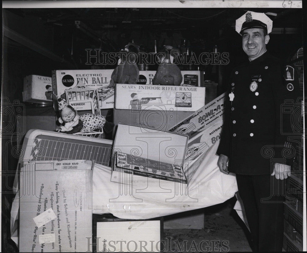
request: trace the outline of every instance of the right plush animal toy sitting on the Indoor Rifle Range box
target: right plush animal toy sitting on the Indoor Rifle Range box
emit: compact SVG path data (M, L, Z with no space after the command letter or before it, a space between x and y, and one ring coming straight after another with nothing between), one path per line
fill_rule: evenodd
M182 74L176 64L173 64L173 58L179 51L172 46L164 46L161 51L165 57L160 58L156 75L153 78L154 85L177 85L182 82ZM162 54L160 54L162 55Z

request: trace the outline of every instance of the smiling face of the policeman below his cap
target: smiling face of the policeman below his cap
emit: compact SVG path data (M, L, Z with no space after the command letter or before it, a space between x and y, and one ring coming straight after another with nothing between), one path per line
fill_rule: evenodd
M270 36L264 35L261 28L246 29L242 33L242 47L248 58L252 61L266 51L266 44Z

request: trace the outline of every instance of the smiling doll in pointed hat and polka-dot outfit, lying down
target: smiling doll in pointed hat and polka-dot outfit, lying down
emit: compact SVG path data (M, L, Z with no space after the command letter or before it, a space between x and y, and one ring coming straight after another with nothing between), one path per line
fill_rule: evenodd
M61 124L64 123L64 125L58 127L56 131L66 134L75 134L78 132L89 133L101 128L104 128L107 133L113 130L114 124L107 122L104 116L92 113L85 113L79 116L76 110L67 104L65 99L60 97L57 98L61 116L59 122Z

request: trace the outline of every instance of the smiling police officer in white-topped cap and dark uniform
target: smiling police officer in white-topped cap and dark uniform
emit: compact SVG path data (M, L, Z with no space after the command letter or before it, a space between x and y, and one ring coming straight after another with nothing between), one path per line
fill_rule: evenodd
M285 99L296 99L299 86L294 69L266 50L272 23L252 11L236 20L248 59L231 73L217 150L220 170L236 174L254 251L282 251L283 179L295 152L281 134L280 109Z

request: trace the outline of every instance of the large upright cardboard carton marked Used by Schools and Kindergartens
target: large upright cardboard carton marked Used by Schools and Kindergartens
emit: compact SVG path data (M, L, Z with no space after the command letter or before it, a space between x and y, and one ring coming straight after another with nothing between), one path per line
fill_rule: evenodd
M20 252L91 249L92 166L87 160L21 163Z

